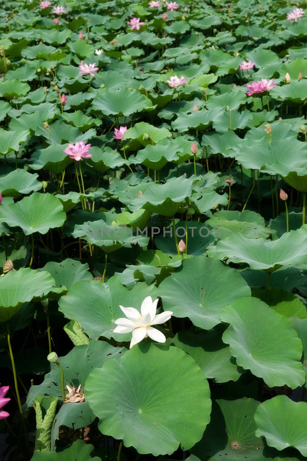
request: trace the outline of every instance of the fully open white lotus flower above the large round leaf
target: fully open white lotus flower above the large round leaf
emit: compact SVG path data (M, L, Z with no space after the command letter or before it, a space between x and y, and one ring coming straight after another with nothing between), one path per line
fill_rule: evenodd
M122 312L126 315L124 317L115 320L116 328L114 333L131 333L132 340L130 343L130 349L134 344L139 343L142 339L148 336L157 341L158 343L165 343L166 337L161 331L152 328L152 325L158 325L165 323L171 318L172 312L165 311L161 314L156 315L156 305L158 300L152 301L151 296L147 296L141 305L141 313L134 307L122 307Z

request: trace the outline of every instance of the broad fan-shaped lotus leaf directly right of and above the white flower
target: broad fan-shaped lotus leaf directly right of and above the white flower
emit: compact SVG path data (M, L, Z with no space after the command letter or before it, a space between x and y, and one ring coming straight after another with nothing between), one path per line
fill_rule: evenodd
M195 256L184 260L178 272L163 280L158 296L164 310L172 311L175 317L189 317L194 325L210 330L220 323L223 307L250 296L250 289L235 269Z

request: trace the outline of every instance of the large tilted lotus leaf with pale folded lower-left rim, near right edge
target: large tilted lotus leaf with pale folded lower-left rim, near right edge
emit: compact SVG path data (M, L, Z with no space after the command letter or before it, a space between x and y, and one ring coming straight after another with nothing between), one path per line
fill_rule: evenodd
M286 317L257 298L242 298L225 307L220 320L230 324L222 339L239 366L269 387L305 383L301 340Z

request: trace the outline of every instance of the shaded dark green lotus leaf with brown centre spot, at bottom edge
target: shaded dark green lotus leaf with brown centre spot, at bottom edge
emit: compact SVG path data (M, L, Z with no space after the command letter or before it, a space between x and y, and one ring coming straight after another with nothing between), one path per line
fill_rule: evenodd
M261 461L263 442L255 436L254 414L260 402L254 399L216 400L211 420L191 453L201 460Z

